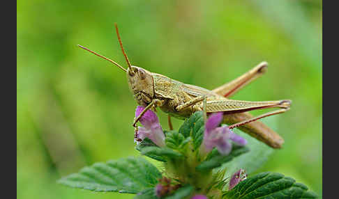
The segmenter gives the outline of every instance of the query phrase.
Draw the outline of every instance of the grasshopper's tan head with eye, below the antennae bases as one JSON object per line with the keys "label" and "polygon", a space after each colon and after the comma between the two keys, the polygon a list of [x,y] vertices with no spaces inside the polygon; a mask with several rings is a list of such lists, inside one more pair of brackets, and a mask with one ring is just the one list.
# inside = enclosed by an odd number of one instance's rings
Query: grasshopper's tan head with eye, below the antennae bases
{"label": "grasshopper's tan head with eye, below the antennae bases", "polygon": [[153,77],[151,72],[142,67],[132,65],[126,72],[128,87],[137,103],[146,106],[154,96]]}

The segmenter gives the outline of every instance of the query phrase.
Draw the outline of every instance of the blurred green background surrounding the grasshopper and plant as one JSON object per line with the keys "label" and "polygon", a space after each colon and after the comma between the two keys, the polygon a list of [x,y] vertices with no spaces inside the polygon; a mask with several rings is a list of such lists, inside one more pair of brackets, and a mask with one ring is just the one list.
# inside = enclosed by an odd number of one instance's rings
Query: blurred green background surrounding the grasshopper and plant
{"label": "blurred green background surrounding the grasshopper and plant", "polygon": [[96,161],[139,155],[126,74],[77,47],[126,67],[114,22],[133,65],[184,83],[213,89],[268,61],[264,77],[232,97],[293,100],[263,120],[285,145],[257,172],[322,195],[322,1],[19,0],[17,198],[133,198],[56,184]]}

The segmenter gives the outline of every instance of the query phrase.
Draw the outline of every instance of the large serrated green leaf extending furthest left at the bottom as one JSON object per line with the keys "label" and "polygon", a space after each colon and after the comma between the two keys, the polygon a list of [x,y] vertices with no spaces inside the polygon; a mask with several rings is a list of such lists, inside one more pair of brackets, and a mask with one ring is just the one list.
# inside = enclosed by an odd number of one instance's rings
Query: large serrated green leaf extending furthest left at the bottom
{"label": "large serrated green leaf extending furthest left at the bottom", "polygon": [[128,157],[84,167],[79,173],[63,177],[58,182],[91,191],[138,193],[155,186],[159,178],[161,173],[148,161]]}

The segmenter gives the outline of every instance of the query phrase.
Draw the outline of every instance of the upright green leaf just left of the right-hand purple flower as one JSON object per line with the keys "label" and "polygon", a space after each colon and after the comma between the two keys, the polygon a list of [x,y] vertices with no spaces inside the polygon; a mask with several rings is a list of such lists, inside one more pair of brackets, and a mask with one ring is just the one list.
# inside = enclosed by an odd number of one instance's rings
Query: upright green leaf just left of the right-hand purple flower
{"label": "upright green leaf just left of the right-hand purple flower", "polygon": [[191,136],[193,138],[193,146],[196,150],[202,143],[204,137],[204,117],[202,111],[197,111],[183,122],[179,129],[179,134],[183,134],[185,138]]}

